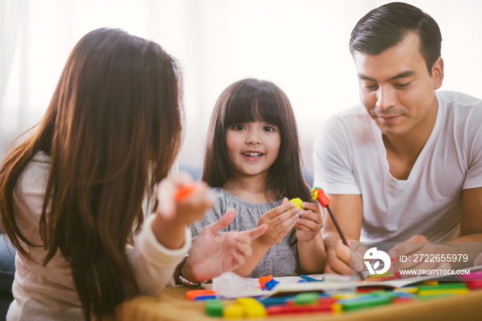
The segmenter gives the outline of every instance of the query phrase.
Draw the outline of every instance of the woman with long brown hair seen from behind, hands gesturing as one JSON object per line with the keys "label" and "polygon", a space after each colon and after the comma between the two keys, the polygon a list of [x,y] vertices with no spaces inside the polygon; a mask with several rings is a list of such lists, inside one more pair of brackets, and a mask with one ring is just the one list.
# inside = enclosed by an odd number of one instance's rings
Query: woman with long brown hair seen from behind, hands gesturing
{"label": "woman with long brown hair seen from behind, hands gesturing", "polygon": [[[180,146],[179,85],[154,42],[100,29],[77,43],[34,134],[0,168],[1,225],[18,252],[8,320],[90,320],[166,286],[191,245],[187,226],[212,204],[205,183],[175,203],[189,178],[164,179]],[[209,237],[229,222],[196,245],[225,268],[198,260],[207,275],[242,264],[262,232]]]}

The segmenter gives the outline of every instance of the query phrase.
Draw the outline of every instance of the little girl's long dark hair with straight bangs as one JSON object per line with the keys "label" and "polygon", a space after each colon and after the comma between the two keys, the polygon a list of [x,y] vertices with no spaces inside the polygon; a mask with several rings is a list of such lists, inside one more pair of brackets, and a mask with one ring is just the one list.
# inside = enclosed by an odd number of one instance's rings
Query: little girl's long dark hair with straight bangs
{"label": "little girl's long dark hair with straight bangs", "polygon": [[222,187],[232,178],[235,169],[229,159],[226,131],[231,125],[252,121],[271,123],[280,130],[280,152],[269,171],[266,196],[313,202],[301,172],[300,143],[291,103],[280,87],[269,81],[244,79],[222,92],[211,114],[202,180],[212,187]]}

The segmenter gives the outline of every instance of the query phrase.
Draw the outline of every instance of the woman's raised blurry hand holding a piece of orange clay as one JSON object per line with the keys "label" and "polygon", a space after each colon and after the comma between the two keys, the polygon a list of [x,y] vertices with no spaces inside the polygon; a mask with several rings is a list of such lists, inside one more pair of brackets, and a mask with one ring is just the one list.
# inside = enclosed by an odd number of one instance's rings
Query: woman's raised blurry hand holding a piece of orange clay
{"label": "woman's raised blurry hand holding a piece of orange clay", "polygon": [[[193,191],[175,200],[176,191],[194,184]],[[202,218],[213,205],[208,186],[204,182],[192,183],[187,173],[180,173],[160,181],[157,188],[158,207],[152,230],[158,242],[168,249],[179,249],[185,243],[185,229],[189,223]]]}

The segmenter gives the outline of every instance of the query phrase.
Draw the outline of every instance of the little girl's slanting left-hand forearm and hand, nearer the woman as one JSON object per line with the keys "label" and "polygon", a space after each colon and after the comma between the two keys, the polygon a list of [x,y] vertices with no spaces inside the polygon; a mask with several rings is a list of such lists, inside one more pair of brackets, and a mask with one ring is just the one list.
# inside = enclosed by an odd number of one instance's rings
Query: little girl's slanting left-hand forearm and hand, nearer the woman
{"label": "little girl's slanting left-hand forearm and hand, nearer the woman", "polygon": [[258,226],[266,224],[268,229],[262,236],[251,242],[253,254],[246,259],[244,265],[235,269],[235,273],[245,278],[249,277],[269,248],[280,242],[293,229],[300,216],[297,207],[294,206],[294,203],[288,202],[285,198],[282,205],[266,211],[260,217]]}

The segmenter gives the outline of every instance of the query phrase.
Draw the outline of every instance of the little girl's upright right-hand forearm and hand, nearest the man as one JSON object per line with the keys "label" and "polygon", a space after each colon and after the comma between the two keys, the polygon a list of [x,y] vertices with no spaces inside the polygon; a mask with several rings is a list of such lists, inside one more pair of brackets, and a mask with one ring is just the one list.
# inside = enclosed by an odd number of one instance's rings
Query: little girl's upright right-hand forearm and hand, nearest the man
{"label": "little girl's upright right-hand forearm and hand, nearest the man", "polygon": [[326,251],[322,238],[322,214],[317,204],[304,202],[302,217],[296,223],[298,261],[304,274],[322,273]]}

